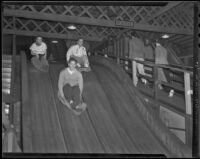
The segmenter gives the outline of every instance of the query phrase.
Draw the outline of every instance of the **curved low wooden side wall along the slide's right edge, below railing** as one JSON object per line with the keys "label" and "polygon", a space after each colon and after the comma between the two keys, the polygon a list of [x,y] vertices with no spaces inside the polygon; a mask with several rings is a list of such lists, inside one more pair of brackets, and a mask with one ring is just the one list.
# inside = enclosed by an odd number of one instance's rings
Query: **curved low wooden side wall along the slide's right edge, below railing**
{"label": "curved low wooden side wall along the slide's right edge, below railing", "polygon": [[105,67],[113,73],[116,79],[122,84],[124,90],[132,97],[135,102],[133,107],[138,109],[138,113],[140,112],[139,114],[141,115],[142,120],[145,120],[148,127],[154,132],[159,141],[166,146],[171,154],[183,158],[191,156],[191,147],[180,141],[180,139],[177,138],[177,136],[173,134],[161,120],[159,120],[156,113],[151,109],[152,104],[144,100],[145,96],[137,91],[131,78],[123,71],[120,65],[116,64],[116,59],[112,60],[111,58],[93,56],[90,57],[90,60],[91,64]]}

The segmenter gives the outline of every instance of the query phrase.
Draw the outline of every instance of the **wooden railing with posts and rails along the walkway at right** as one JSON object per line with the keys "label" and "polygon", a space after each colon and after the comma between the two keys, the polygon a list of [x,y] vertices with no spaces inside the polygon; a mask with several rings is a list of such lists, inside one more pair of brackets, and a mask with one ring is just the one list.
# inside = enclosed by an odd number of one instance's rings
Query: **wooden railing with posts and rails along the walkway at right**
{"label": "wooden railing with posts and rails along the walkway at right", "polygon": [[[116,63],[118,63],[124,70],[127,72],[131,77],[133,75],[132,67],[133,62],[141,63],[145,67],[149,67],[152,69],[150,71],[151,76],[144,76],[144,75],[138,75],[138,77],[142,77],[147,79],[149,82],[152,83],[152,90],[153,90],[153,96],[150,98],[151,103],[155,106],[156,110],[160,110],[161,106],[164,106],[168,108],[169,110],[178,113],[179,115],[183,116],[185,118],[185,133],[186,133],[186,143],[191,146],[192,144],[192,96],[191,96],[191,85],[192,85],[192,68],[186,67],[186,66],[180,66],[180,65],[162,65],[162,64],[155,64],[150,61],[139,61],[135,59],[125,58],[125,57],[116,57],[116,56],[110,56],[106,54],[99,53],[98,55],[104,56],[106,58],[113,59]],[[128,69],[127,69],[128,68]],[[175,85],[173,82],[164,82],[158,80],[158,68],[166,69],[170,71],[170,73],[176,73],[179,78],[180,74],[182,74],[182,85]],[[149,73],[149,72],[148,72]],[[132,78],[134,79],[134,78]],[[179,82],[180,83],[180,82]],[[174,107],[173,105],[163,103],[158,99],[158,85],[162,84],[164,87],[170,89],[174,89],[175,92],[179,91],[184,95],[183,101],[185,102],[185,108],[181,111],[180,109]],[[137,87],[136,87],[137,88]],[[137,88],[138,89],[138,88]],[[159,113],[157,113],[159,114]],[[174,128],[175,130],[176,128]]]}

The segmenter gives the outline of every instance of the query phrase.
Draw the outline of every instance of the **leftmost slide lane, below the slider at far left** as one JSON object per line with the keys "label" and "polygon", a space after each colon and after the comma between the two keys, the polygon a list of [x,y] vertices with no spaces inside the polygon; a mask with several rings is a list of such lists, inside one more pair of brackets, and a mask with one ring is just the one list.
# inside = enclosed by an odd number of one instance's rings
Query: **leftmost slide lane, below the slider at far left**
{"label": "leftmost slide lane, below the slider at far left", "polygon": [[28,79],[32,151],[38,153],[68,152],[48,73],[39,72],[28,64]]}

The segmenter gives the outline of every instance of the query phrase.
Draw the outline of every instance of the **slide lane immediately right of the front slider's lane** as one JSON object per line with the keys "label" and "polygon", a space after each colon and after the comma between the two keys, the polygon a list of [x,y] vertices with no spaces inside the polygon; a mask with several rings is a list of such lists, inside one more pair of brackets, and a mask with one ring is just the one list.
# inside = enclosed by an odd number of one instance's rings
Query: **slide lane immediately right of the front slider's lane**
{"label": "slide lane immediately right of the front slider's lane", "polygon": [[109,109],[110,99],[105,95],[94,73],[86,75],[85,81],[88,81],[85,84],[85,100],[90,105],[88,113],[106,153],[139,153]]}

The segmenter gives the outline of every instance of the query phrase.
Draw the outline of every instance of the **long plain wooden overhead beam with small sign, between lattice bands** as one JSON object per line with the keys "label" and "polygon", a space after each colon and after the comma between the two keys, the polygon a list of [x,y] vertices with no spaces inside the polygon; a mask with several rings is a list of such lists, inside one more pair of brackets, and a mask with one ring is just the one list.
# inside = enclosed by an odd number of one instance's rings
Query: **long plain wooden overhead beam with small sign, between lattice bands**
{"label": "long plain wooden overhead beam with small sign, between lattice bands", "polygon": [[28,19],[78,23],[78,24],[85,24],[85,25],[97,25],[97,26],[104,26],[104,27],[129,28],[129,29],[142,30],[142,31],[175,33],[175,34],[183,34],[183,35],[193,34],[193,31],[189,29],[159,27],[159,26],[153,26],[153,25],[144,24],[144,23],[136,23],[134,24],[133,27],[116,26],[115,21],[113,20],[99,20],[99,19],[91,19],[91,18],[86,18],[86,17],[56,15],[56,14],[38,13],[38,12],[11,10],[11,9],[4,9],[3,16],[15,16],[15,17],[28,18]]}

